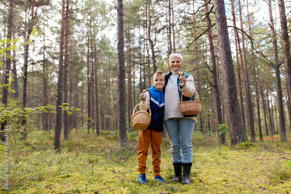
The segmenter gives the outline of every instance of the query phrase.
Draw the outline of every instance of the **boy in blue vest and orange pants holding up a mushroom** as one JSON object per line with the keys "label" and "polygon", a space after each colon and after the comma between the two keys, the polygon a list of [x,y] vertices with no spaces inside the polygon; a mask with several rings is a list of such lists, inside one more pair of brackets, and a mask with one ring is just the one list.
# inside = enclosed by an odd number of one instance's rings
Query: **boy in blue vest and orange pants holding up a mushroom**
{"label": "boy in blue vest and orange pants holding up a mushroom", "polygon": [[163,183],[164,179],[160,175],[161,171],[161,143],[163,119],[164,119],[164,86],[165,74],[163,71],[155,72],[153,76],[153,86],[151,86],[144,94],[140,94],[140,109],[147,111],[148,106],[152,112],[151,122],[147,129],[139,131],[139,144],[137,149],[137,161],[139,176],[137,181],[141,184],[147,183],[145,179],[146,159],[148,157],[148,147],[152,152],[152,168],[154,170],[154,179],[157,182]]}

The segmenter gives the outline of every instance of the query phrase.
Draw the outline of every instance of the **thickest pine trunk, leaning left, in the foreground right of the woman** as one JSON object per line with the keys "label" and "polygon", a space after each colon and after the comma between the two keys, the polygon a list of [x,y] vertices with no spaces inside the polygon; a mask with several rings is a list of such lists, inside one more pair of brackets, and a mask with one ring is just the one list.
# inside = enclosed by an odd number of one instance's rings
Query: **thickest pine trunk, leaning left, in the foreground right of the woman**
{"label": "thickest pine trunk, leaning left, in the foreground right of the woman", "polygon": [[242,114],[237,99],[235,71],[230,50],[227,21],[223,0],[214,0],[219,52],[222,64],[223,82],[227,112],[230,124],[231,145],[247,141],[246,129],[242,123]]}

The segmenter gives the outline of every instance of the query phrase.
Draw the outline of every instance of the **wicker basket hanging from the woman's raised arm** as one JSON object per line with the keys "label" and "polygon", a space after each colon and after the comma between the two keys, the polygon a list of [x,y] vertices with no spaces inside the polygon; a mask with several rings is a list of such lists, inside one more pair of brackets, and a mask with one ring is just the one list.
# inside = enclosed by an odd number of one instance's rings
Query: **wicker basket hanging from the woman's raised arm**
{"label": "wicker basket hanging from the woman's raised arm", "polygon": [[[192,90],[194,89],[192,88]],[[181,113],[184,115],[196,115],[196,114],[201,113],[202,103],[199,100],[199,96],[196,90],[194,90],[194,92],[196,93],[198,97],[198,101],[189,100],[189,101],[183,102],[183,94],[181,96],[181,102],[179,102],[179,105],[180,105]]]}

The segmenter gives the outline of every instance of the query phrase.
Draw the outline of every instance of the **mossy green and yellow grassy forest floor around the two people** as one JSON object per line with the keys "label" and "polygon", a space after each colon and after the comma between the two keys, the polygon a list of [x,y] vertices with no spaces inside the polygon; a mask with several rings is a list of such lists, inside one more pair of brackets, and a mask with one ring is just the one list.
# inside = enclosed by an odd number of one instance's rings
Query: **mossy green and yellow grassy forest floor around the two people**
{"label": "mossy green and yellow grassy forest floor around the two people", "polygon": [[[286,162],[291,159],[290,135],[285,142],[274,136],[273,140],[266,137],[254,144],[220,146],[217,138],[194,131],[189,185],[169,182],[174,172],[170,143],[164,138],[161,175],[165,183],[153,180],[149,149],[148,183],[141,185],[136,181],[138,133],[128,135],[132,141],[126,148],[118,147],[117,133],[107,135],[107,131],[101,131],[100,137],[75,135],[74,131],[72,134],[70,141],[61,141],[60,154],[53,152],[53,133],[31,131],[26,143],[15,143],[12,139],[9,188],[4,189],[1,178],[0,193],[291,193],[291,166]],[[0,155],[3,158],[3,150]],[[5,175],[4,166],[4,160],[0,160],[0,177]]]}

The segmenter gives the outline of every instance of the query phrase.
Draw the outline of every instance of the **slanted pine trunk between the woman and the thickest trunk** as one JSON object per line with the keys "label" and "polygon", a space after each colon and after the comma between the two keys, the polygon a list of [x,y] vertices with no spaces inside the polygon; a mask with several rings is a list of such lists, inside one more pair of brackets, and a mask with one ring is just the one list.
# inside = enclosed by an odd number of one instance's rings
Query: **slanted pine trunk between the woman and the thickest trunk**
{"label": "slanted pine trunk between the woman and the thickest trunk", "polygon": [[[204,3],[206,4],[208,1],[204,0]],[[210,26],[210,18],[209,18],[209,8],[208,4],[205,5],[205,14],[206,14],[206,27],[207,29]],[[219,90],[218,90],[218,82],[217,82],[217,72],[216,72],[216,60],[215,60],[215,51],[213,46],[213,37],[212,37],[212,31],[211,29],[208,29],[208,42],[209,42],[209,50],[210,50],[210,58],[211,58],[211,66],[212,66],[212,85],[214,89],[214,103],[215,103],[215,114],[217,118],[217,126],[219,124],[222,124],[222,113],[221,113],[221,104],[220,104],[220,96],[219,96]],[[218,134],[220,131],[217,131]],[[218,135],[219,144],[222,145],[225,143],[225,134]]]}

